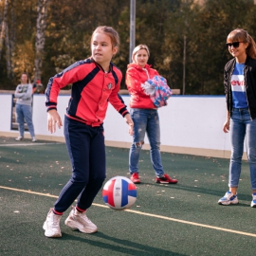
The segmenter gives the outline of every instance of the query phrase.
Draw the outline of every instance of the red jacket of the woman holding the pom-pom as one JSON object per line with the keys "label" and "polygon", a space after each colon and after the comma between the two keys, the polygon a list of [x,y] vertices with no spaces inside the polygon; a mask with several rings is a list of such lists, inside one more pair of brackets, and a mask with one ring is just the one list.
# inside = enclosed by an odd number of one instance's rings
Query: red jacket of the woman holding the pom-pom
{"label": "red jacket of the woman holding the pom-pom", "polygon": [[151,68],[149,64],[146,64],[145,68],[137,64],[127,65],[125,83],[131,96],[131,108],[155,108],[150,96],[146,95],[141,87],[141,83],[155,76],[159,76],[159,74],[155,69]]}

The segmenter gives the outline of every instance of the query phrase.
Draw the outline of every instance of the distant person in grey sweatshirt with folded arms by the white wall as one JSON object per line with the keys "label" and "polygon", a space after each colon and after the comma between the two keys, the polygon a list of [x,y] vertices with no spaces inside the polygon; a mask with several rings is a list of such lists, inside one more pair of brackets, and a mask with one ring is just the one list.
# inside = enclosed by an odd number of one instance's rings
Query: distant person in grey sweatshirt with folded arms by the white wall
{"label": "distant person in grey sweatshirt with folded arms by the white wall", "polygon": [[19,141],[24,138],[24,125],[25,121],[27,122],[28,131],[32,137],[32,142],[35,142],[37,139],[35,137],[34,125],[32,121],[32,84],[29,82],[27,73],[21,75],[21,83],[16,87],[15,98],[16,101],[16,115],[19,126],[19,137],[16,137],[15,140]]}

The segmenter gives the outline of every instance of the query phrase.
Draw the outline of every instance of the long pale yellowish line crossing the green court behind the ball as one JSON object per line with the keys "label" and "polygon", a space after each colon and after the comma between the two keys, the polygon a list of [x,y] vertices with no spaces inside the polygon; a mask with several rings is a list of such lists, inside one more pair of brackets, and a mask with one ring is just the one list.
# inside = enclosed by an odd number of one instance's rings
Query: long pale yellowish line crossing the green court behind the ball
{"label": "long pale yellowish line crossing the green court behind the ball", "polygon": [[[47,197],[58,198],[58,196],[56,196],[56,195],[49,194],[49,193],[43,193],[43,192],[24,191],[24,190],[19,190],[19,189],[4,187],[4,186],[0,186],[0,189],[14,191],[14,192],[27,192],[27,193],[38,194],[38,195],[43,195],[43,196],[47,196]],[[95,204],[95,203],[93,203],[93,206],[97,206],[97,207],[101,207],[101,208],[109,208],[105,205],[100,205],[100,204]],[[224,229],[224,228],[219,228],[219,227],[215,227],[215,226],[200,224],[200,223],[196,223],[196,222],[190,222],[190,221],[174,219],[174,218],[170,218],[170,217],[166,217],[166,216],[151,214],[151,213],[142,212],[142,211],[138,211],[138,210],[126,210],[126,211],[136,213],[136,214],[139,214],[139,215],[154,217],[156,219],[169,220],[169,221],[188,224],[188,225],[197,226],[197,227],[206,228],[206,229],[215,229],[215,230],[225,231],[225,232],[229,232],[229,233],[235,233],[235,234],[240,234],[240,235],[247,235],[247,236],[251,236],[251,237],[256,237],[256,234],[254,234],[254,233],[248,233],[248,232],[238,231],[238,230],[234,230],[234,229]]]}

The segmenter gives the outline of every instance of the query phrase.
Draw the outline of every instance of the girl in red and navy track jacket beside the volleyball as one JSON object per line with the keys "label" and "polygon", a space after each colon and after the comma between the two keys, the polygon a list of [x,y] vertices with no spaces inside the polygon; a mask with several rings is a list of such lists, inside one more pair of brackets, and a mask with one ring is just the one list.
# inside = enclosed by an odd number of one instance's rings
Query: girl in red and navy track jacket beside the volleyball
{"label": "girl in red and navy track jacket beside the volleyball", "polygon": [[98,230],[86,213],[106,177],[103,120],[108,102],[126,120],[130,126],[130,134],[133,133],[133,120],[118,94],[122,74],[111,63],[118,50],[118,32],[112,27],[97,27],[91,38],[92,56],[65,68],[47,84],[47,125],[50,133],[56,131],[56,124],[59,128],[63,125],[57,112],[60,89],[73,84],[64,117],[64,137],[72,164],[72,175],[54,208],[47,214],[43,226],[47,237],[62,236],[61,217],[77,197],[76,207],[72,207],[65,225],[84,233]]}

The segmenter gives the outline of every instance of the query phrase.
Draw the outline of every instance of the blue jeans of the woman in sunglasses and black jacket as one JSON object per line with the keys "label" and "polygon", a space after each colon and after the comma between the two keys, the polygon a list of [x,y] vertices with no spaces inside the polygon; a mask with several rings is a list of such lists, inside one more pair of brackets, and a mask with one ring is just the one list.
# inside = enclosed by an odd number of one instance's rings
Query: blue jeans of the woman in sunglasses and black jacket
{"label": "blue jeans of the woman in sunglasses and black jacket", "polygon": [[233,108],[229,129],[231,141],[229,188],[238,187],[246,138],[251,189],[256,190],[256,119],[250,119],[248,109]]}

